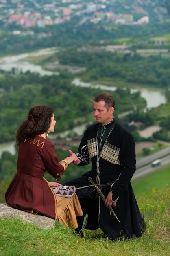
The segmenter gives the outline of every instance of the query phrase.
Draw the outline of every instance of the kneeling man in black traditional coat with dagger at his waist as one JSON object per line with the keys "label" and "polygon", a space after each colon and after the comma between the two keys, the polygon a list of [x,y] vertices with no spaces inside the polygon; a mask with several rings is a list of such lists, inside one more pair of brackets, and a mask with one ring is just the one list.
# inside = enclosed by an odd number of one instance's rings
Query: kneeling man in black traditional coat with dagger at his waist
{"label": "kneeling man in black traditional coat with dagger at his waist", "polygon": [[[82,177],[67,182],[76,186],[76,194],[84,216],[77,217],[78,232],[81,229],[102,231],[112,240],[130,239],[133,234],[142,236],[146,229],[143,215],[139,212],[131,178],[135,172],[135,143],[133,135],[113,117],[114,98],[101,93],[94,98],[93,111],[96,124],[87,128],[78,148],[79,166],[92,162],[91,171]],[[101,189],[103,202],[89,182],[88,177]],[[118,220],[110,213],[113,207]]]}

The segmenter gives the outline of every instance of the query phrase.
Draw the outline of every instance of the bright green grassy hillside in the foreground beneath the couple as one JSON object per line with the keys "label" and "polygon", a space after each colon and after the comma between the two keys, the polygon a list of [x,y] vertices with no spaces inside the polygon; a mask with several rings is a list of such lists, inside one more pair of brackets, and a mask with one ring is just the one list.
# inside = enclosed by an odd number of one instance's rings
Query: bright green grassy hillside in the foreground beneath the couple
{"label": "bright green grassy hillside in the foreground beneath the couple", "polygon": [[13,218],[0,218],[0,256],[169,256],[170,164],[132,181],[147,223],[141,238],[112,242],[100,229],[78,238],[62,225],[42,229]]}

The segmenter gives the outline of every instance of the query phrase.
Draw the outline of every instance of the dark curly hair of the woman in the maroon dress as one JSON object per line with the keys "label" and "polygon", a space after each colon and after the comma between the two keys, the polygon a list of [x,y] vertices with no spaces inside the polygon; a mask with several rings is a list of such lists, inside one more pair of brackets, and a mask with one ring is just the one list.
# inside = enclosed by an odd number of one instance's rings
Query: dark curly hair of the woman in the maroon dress
{"label": "dark curly hair of the woman in the maroon dress", "polygon": [[47,132],[54,110],[50,106],[38,105],[29,110],[27,120],[20,124],[16,134],[16,145],[25,139]]}

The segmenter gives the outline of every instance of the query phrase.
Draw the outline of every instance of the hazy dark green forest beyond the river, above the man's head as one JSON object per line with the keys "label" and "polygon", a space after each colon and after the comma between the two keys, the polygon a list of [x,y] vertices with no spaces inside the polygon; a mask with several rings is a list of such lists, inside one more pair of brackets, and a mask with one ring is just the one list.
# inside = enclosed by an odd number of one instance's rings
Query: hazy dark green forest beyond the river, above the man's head
{"label": "hazy dark green forest beyond the river, above the man's head", "polygon": [[63,65],[86,67],[86,72],[79,74],[83,81],[114,79],[165,89],[170,81],[170,58],[162,58],[161,54],[146,58],[137,53],[69,49],[57,52],[56,59]]}

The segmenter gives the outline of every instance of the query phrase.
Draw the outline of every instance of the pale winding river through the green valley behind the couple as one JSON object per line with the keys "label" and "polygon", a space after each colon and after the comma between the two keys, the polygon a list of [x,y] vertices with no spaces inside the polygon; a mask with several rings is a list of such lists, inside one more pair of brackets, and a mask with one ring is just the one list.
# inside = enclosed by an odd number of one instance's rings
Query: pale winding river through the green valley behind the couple
{"label": "pale winding river through the green valley behind the couple", "polygon": [[[18,70],[18,72],[22,71],[22,72],[26,72],[26,71],[30,71],[30,72],[36,72],[39,73],[41,76],[44,75],[52,75],[54,74],[54,72],[52,71],[48,71],[48,70],[44,70],[40,65],[35,65],[33,63],[30,63],[28,61],[22,61],[25,58],[28,57],[32,57],[32,56],[40,56],[40,55],[45,55],[45,54],[50,54],[53,52],[56,52],[56,48],[47,48],[47,49],[43,49],[43,50],[39,50],[39,51],[35,51],[35,52],[31,52],[31,53],[24,53],[24,54],[18,54],[18,55],[13,55],[13,56],[5,56],[3,58],[0,58],[0,69],[1,70],[5,70],[5,71],[10,71],[12,68],[16,68]],[[58,73],[55,73],[58,74]],[[97,84],[97,85],[92,85],[90,83],[84,83],[82,81],[80,81],[80,79],[75,78],[72,83],[76,86],[80,86],[80,87],[92,87],[92,88],[101,88],[102,90],[109,90],[109,91],[115,91],[116,87],[109,87],[106,85],[101,85],[101,84]],[[131,89],[131,93],[136,92],[138,89]],[[165,94],[163,94],[163,90],[161,89],[150,89],[150,88],[140,88],[139,89],[141,92],[141,97],[143,97],[144,99],[146,99],[146,103],[147,103],[147,108],[155,108],[161,104],[166,103],[166,97]],[[81,131],[84,128],[81,127],[75,127],[74,130],[75,132],[81,133]],[[79,131],[79,132],[78,132]],[[63,132],[63,134],[61,135],[61,137],[64,137],[68,132]],[[81,134],[78,134],[81,135]],[[3,143],[0,144],[0,156],[2,155],[3,151],[9,151],[11,154],[15,153],[15,142],[7,142],[7,143]]]}

